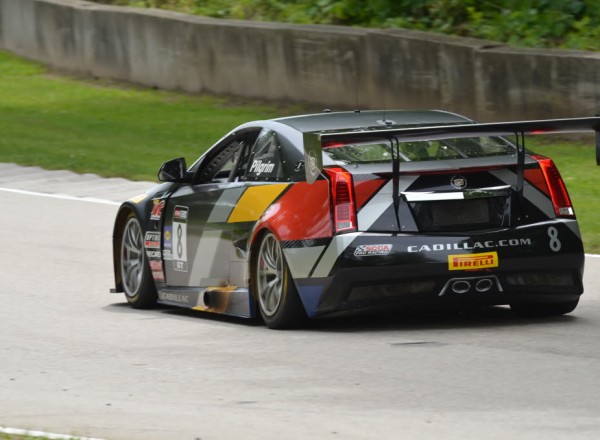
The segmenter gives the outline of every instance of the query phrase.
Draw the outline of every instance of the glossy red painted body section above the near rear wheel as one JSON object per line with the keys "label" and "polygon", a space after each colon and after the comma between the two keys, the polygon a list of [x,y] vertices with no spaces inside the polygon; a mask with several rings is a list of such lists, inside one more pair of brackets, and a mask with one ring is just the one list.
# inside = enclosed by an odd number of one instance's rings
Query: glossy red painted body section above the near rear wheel
{"label": "glossy red painted body section above the near rear wheel", "polygon": [[265,212],[256,230],[269,228],[279,240],[332,236],[329,182],[298,182]]}

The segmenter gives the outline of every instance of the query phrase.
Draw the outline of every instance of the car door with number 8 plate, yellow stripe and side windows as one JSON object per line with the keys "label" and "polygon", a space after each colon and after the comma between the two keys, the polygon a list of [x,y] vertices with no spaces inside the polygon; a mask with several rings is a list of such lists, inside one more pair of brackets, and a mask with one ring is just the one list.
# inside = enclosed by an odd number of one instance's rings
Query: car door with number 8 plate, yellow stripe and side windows
{"label": "car door with number 8 plate, yellow stripe and side windows", "polygon": [[[277,136],[259,129],[217,146],[194,182],[167,201],[163,226],[166,284],[247,287],[247,240],[264,209],[287,187]],[[268,186],[268,188],[265,188]]]}

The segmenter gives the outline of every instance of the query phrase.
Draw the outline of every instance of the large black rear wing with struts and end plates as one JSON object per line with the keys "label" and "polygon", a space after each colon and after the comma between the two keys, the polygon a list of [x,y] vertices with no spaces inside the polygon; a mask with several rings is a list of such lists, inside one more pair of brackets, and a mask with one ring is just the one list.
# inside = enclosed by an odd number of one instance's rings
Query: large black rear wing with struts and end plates
{"label": "large black rear wing with struts and end plates", "polygon": [[[596,164],[600,165],[600,117],[542,119],[538,121],[491,122],[484,124],[439,125],[387,130],[304,133],[304,169],[306,181],[313,183],[323,169],[323,142],[387,140],[391,145],[402,142],[455,139],[478,136],[509,136],[517,138],[517,168],[522,176],[525,163],[525,135],[596,132]],[[399,157],[394,157],[394,174],[399,173]]]}

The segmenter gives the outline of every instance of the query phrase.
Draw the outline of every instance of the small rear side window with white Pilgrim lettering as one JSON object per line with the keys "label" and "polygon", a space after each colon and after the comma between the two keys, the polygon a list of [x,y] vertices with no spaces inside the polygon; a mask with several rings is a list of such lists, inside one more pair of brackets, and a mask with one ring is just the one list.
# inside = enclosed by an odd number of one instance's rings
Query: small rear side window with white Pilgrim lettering
{"label": "small rear side window with white Pilgrim lettering", "polygon": [[264,129],[258,135],[247,165],[245,179],[249,181],[277,181],[283,179],[277,134]]}

